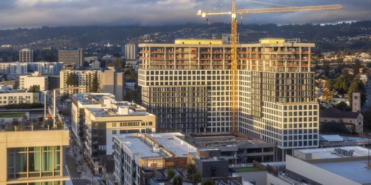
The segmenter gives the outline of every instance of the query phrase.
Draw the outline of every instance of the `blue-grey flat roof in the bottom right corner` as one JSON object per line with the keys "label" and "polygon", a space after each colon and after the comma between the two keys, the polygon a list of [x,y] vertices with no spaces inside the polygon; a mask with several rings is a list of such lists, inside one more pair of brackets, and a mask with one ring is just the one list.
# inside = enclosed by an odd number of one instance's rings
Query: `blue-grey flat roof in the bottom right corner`
{"label": "blue-grey flat roof in the bottom right corner", "polygon": [[371,169],[365,167],[367,160],[319,162],[312,164],[361,184],[371,183]]}

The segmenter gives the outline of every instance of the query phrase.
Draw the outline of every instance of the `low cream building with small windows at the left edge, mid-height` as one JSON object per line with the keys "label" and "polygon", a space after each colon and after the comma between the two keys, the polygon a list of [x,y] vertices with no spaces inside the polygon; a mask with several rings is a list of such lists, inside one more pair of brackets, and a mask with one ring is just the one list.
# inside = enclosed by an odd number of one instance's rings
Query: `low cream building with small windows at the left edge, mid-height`
{"label": "low cream building with small windows at the left edge, mid-height", "polygon": [[39,103],[39,93],[9,92],[0,93],[0,107],[9,104]]}

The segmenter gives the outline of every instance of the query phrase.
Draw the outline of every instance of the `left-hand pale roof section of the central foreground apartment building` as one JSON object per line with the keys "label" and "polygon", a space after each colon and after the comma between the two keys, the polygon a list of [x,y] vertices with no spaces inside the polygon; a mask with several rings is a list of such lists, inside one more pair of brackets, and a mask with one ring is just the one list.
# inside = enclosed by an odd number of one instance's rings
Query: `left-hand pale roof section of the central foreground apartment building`
{"label": "left-hand pale roof section of the central foreground apartment building", "polygon": [[149,147],[139,137],[127,135],[116,135],[115,136],[121,144],[125,145],[138,157],[157,157],[161,156],[159,152],[154,152],[153,148]]}

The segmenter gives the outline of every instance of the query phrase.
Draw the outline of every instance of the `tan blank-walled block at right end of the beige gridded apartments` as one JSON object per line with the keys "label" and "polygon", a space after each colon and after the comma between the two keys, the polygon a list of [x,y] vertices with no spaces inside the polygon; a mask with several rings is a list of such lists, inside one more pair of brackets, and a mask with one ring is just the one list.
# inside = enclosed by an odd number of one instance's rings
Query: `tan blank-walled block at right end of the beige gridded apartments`
{"label": "tan blank-walled block at right end of the beige gridded apartments", "polygon": [[115,95],[117,101],[123,101],[125,95],[125,74],[114,67],[103,68],[100,72],[101,92]]}

